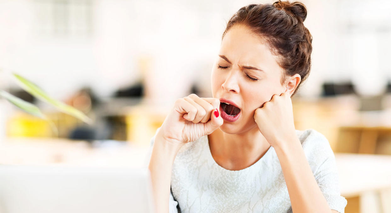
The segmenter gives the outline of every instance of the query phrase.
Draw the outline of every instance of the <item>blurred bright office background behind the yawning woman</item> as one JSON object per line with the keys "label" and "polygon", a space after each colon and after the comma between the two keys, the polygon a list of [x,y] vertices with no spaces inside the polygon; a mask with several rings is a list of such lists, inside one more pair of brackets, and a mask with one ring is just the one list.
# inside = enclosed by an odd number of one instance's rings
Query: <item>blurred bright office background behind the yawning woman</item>
{"label": "blurred bright office background behind the yawning woman", "polygon": [[[142,166],[177,98],[212,97],[229,18],[246,0],[0,0],[0,163]],[[391,2],[305,0],[312,69],[292,97],[295,127],[334,150],[345,212],[391,212]],[[15,72],[83,111],[87,125],[36,100]],[[132,153],[132,154],[129,154]],[[144,161],[143,161],[144,162]]]}

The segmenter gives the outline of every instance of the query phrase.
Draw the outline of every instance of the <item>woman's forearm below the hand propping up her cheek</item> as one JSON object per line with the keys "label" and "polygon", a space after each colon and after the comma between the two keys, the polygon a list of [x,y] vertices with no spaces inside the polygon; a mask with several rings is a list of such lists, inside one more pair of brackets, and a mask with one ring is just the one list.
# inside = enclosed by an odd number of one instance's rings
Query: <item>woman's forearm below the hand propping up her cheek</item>
{"label": "woman's forearm below the hand propping up her cheek", "polygon": [[293,212],[330,213],[298,138],[284,141],[283,147],[275,147],[287,184]]}

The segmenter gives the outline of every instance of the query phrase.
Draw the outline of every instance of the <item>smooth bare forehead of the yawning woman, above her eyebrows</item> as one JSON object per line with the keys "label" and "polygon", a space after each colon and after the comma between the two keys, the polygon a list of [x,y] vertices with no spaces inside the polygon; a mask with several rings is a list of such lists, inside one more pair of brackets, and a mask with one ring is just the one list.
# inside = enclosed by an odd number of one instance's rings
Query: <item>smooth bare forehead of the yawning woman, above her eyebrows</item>
{"label": "smooth bare forehead of the yawning woman, above her eyebrows", "polygon": [[225,55],[232,63],[253,64],[268,69],[280,68],[277,63],[278,56],[269,50],[264,39],[255,36],[244,25],[236,24],[226,32],[221,42],[220,54]]}

